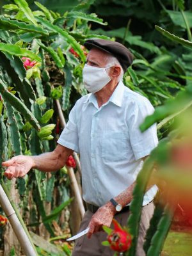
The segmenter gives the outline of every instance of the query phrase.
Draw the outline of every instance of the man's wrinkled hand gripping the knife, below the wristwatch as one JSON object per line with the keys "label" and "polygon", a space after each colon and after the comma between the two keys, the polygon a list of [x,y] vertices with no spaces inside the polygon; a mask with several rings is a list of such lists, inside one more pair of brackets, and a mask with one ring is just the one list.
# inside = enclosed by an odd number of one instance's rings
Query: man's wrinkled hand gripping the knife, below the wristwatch
{"label": "man's wrinkled hand gripping the knife, below the wristwatch", "polygon": [[92,237],[92,234],[102,230],[102,225],[110,227],[113,217],[115,215],[115,207],[111,203],[100,207],[92,216],[88,227],[90,228],[87,236]]}

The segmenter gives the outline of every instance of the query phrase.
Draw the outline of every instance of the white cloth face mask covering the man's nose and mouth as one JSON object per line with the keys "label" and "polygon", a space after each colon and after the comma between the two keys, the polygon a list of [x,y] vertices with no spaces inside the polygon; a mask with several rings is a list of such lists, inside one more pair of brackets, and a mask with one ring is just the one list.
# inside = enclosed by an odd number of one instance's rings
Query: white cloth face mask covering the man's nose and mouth
{"label": "white cloth face mask covering the man's nose and mouth", "polygon": [[83,83],[88,92],[99,92],[109,81],[111,81],[111,77],[108,76],[106,68],[92,67],[87,64],[84,65]]}

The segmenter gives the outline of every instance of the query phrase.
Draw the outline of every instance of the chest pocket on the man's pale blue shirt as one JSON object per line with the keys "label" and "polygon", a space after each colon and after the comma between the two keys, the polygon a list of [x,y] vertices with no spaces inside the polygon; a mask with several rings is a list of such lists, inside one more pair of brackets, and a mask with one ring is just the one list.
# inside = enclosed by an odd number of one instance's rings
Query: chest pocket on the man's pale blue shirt
{"label": "chest pocket on the man's pale blue shirt", "polygon": [[120,161],[127,158],[128,133],[108,132],[102,136],[101,156],[106,161]]}

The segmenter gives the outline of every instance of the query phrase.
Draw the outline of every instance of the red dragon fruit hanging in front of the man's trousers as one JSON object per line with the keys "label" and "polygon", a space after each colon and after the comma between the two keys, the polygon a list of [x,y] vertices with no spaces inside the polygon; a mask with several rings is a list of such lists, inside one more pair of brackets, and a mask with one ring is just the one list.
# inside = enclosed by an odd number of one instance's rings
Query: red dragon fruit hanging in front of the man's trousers
{"label": "red dragon fruit hanging in front of the man's trousers", "polygon": [[112,250],[126,252],[131,247],[131,234],[124,230],[116,220],[113,219],[114,230],[107,237]]}

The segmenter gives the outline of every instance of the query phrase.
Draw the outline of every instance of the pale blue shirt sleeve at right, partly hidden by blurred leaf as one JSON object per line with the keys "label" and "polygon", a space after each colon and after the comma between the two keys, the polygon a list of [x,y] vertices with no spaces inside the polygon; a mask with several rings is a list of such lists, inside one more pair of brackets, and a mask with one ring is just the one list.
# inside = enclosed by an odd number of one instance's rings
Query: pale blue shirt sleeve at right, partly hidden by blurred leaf
{"label": "pale blue shirt sleeve at right, partly hidden by blurred leaf", "polygon": [[135,102],[129,111],[129,138],[136,160],[148,156],[158,144],[156,124],[149,127],[145,132],[140,131],[140,125],[145,117],[152,115],[153,112],[154,108],[146,98],[142,98],[137,104]]}

